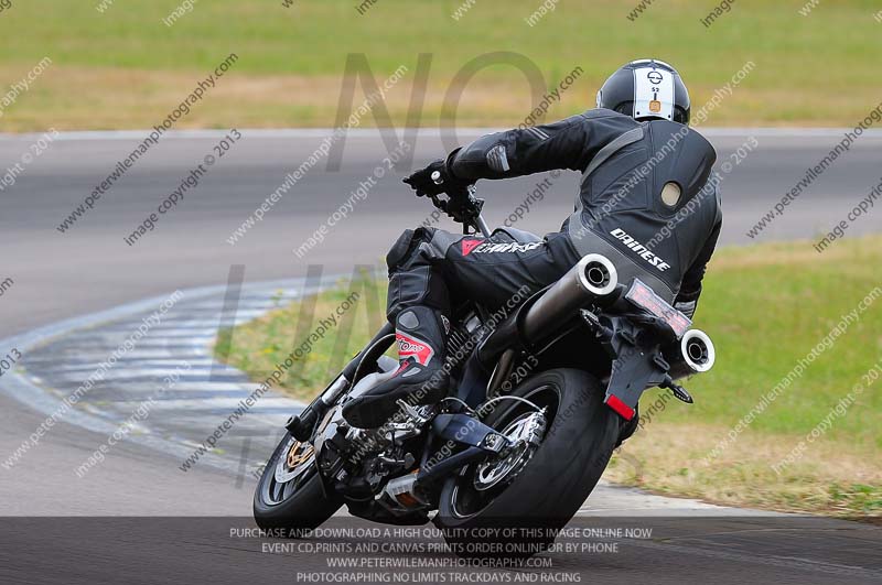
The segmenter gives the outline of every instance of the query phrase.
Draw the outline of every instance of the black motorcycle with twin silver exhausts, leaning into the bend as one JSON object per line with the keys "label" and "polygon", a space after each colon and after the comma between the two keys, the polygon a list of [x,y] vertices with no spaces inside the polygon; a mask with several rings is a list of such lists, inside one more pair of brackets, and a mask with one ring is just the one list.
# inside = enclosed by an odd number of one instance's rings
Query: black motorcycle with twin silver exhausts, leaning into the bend
{"label": "black motorcycle with twin silver exhausts, leaning into the bend", "polygon": [[[443,195],[432,203],[463,234],[490,236],[474,186]],[[346,401],[398,367],[385,355],[395,342],[386,324],[289,419],[255,492],[257,524],[303,533],[345,505],[375,522],[431,520],[462,556],[546,550],[636,429],[643,392],[660,387],[691,403],[677,381],[711,369],[716,353],[639,279],[619,282],[601,254],[524,296],[505,314],[480,300],[454,308],[447,398],[399,401],[381,427],[352,427],[341,414]],[[476,548],[476,534],[497,545]]]}

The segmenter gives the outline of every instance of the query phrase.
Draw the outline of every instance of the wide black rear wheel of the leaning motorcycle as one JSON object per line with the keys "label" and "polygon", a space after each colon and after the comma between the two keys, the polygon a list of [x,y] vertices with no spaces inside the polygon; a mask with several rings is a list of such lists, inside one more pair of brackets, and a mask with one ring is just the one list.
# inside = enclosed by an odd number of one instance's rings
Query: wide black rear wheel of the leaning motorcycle
{"label": "wide black rear wheel of the leaning motorcycle", "polygon": [[[547,423],[538,444],[464,467],[445,483],[434,522],[461,556],[546,550],[594,489],[620,437],[622,420],[584,371],[548,370],[508,396],[544,409]],[[517,436],[536,411],[531,404],[498,401],[484,422]]]}

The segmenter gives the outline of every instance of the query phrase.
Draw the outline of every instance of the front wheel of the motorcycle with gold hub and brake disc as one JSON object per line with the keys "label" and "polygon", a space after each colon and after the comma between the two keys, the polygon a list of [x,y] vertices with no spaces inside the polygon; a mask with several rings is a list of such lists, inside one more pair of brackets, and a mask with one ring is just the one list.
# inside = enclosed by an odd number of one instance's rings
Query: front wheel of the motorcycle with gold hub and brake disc
{"label": "front wheel of the motorcycle with gold hub and brake disc", "polygon": [[341,505],[338,497],[325,494],[312,445],[286,433],[255,490],[257,526],[265,530],[310,530],[334,516]]}

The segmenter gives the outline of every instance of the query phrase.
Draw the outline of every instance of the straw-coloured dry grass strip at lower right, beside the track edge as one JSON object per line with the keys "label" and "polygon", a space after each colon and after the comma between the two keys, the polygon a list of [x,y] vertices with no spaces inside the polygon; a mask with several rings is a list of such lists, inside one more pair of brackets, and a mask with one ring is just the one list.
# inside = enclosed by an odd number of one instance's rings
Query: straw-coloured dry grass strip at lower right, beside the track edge
{"label": "straw-coloured dry grass strip at lower right, beside the track edge", "polygon": [[613,458],[611,481],[725,506],[843,517],[882,517],[878,453],[819,441],[781,475],[772,465],[804,437],[744,433],[710,464],[704,457],[729,429],[654,421]]}

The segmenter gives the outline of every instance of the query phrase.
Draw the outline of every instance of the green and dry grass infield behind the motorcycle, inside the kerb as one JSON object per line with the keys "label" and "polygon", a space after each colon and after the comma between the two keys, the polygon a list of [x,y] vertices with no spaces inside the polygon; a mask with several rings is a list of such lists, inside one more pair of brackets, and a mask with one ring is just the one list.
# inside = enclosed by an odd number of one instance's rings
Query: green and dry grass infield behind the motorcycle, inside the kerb
{"label": "green and dry grass infield behind the motorcycle, inside the kerb", "polygon": [[[872,373],[882,371],[881,264],[880,236],[838,241],[820,254],[808,242],[720,250],[696,323],[714,339],[717,366],[687,382],[692,405],[663,391],[644,397],[643,427],[606,477],[727,505],[882,516],[882,379]],[[298,332],[359,288],[365,302],[342,317],[340,335],[315,343],[284,380],[310,399],[380,323],[384,286],[345,284],[281,307],[238,327],[235,344],[224,332],[218,350],[262,379],[300,343],[291,342],[302,339]],[[831,338],[845,315],[852,315],[847,331]]]}

